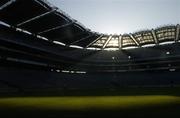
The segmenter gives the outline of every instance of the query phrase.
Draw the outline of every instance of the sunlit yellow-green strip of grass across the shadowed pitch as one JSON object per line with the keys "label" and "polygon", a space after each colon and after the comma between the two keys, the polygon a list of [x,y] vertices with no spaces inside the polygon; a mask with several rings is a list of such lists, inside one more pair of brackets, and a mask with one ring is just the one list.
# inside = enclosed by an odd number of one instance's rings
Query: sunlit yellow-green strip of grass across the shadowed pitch
{"label": "sunlit yellow-green strip of grass across the shadowed pitch", "polygon": [[148,96],[79,96],[79,97],[16,97],[1,98],[0,106],[30,107],[41,109],[85,110],[127,109],[148,106],[180,104],[180,97]]}

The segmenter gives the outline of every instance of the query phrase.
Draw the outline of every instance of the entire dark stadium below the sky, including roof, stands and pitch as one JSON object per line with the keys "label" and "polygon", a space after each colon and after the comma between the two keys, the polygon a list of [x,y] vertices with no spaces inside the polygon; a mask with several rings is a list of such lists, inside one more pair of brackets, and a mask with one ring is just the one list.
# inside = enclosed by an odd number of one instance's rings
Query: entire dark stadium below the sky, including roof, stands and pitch
{"label": "entire dark stadium below the sky, including roof, stands and pitch", "polygon": [[1,0],[1,117],[178,117],[179,42],[179,24],[103,34],[46,0]]}

